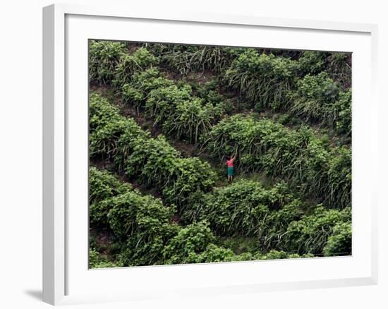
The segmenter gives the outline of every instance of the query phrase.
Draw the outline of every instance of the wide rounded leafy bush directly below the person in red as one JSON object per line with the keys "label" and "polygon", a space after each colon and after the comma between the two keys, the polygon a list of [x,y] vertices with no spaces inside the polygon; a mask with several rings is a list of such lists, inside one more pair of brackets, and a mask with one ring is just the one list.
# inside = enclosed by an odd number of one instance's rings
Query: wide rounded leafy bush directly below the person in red
{"label": "wide rounded leafy bush directly below the person in red", "polygon": [[217,235],[257,236],[264,244],[273,237],[269,231],[275,234],[279,232],[277,228],[300,217],[300,202],[295,202],[293,208],[287,206],[293,200],[284,183],[266,189],[255,181],[241,180],[190,201],[182,219],[186,222],[205,219]]}

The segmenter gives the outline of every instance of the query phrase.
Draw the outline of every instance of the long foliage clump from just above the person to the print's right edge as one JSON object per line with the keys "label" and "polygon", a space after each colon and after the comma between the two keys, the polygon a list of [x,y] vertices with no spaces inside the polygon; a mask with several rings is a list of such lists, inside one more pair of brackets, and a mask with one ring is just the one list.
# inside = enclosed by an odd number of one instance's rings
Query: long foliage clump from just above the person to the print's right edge
{"label": "long foliage clump from just above the person to the print's right edge", "polygon": [[213,126],[203,145],[214,158],[234,154],[239,169],[281,177],[332,207],[351,202],[351,149],[332,147],[308,128],[294,130],[268,119],[235,115]]}

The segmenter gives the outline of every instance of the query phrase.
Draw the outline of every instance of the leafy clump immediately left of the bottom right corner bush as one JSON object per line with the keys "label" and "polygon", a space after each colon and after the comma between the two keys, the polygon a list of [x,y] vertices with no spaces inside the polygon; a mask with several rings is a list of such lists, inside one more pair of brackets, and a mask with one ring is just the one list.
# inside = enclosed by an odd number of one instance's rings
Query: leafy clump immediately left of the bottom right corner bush
{"label": "leafy clump immediately left of the bottom right corner bush", "polygon": [[326,210],[318,206],[313,214],[305,215],[301,220],[289,225],[284,235],[283,246],[287,251],[299,254],[321,255],[329,236],[333,234],[334,226],[350,221],[350,207],[339,211]]}

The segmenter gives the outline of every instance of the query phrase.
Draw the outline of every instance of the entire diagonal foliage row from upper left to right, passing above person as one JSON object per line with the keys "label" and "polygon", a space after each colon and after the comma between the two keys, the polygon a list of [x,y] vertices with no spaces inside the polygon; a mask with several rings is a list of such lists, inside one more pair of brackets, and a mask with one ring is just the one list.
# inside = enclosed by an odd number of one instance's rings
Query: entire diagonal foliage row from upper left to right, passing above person
{"label": "entire diagonal foliage row from upper left to right, passing above person", "polygon": [[165,135],[199,143],[216,159],[235,154],[243,169],[286,179],[332,207],[351,202],[347,145],[332,147],[306,126],[291,129],[270,119],[229,116],[225,102],[193,95],[190,85],[176,85],[156,68],[134,73],[121,94],[123,102],[162,126]]}

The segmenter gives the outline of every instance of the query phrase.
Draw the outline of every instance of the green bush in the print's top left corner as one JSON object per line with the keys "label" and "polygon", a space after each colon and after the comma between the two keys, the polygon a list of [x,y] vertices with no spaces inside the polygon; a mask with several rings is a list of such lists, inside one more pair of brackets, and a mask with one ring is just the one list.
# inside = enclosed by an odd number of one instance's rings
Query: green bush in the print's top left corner
{"label": "green bush in the print's top left corner", "polygon": [[123,43],[90,41],[90,80],[97,81],[100,85],[111,83],[116,74],[116,66],[125,54],[126,47]]}

